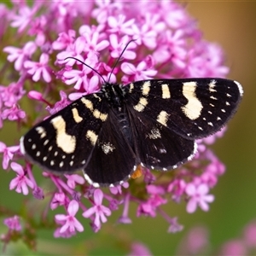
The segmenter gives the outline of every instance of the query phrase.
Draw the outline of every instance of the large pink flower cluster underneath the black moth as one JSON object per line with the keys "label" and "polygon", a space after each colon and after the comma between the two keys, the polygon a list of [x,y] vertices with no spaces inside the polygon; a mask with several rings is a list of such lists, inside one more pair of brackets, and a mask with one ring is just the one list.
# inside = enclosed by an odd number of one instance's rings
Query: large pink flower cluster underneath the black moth
{"label": "large pink flower cluster underneath the black moth", "polygon": [[[5,62],[1,68],[6,70],[5,79],[0,81],[2,129],[6,119],[15,122],[17,129],[28,129],[80,96],[100,90],[102,79],[91,68],[106,80],[112,73],[110,82],[124,84],[154,78],[224,77],[228,73],[222,50],[205,41],[195,20],[182,5],[172,1],[42,0],[12,4],[11,9],[0,4],[5,20],[0,31],[0,37],[4,35],[1,62]],[[113,69],[131,39],[136,40]],[[84,61],[91,68],[67,57]],[[33,104],[32,113],[22,110],[25,101]],[[14,137],[14,142],[18,139]],[[10,167],[15,176],[9,189],[47,199],[51,210],[65,210],[65,214],[55,215],[55,236],[70,237],[84,231],[75,217],[79,210],[90,219],[94,231],[100,230],[119,207],[124,209],[119,223],[129,224],[131,202],[137,204],[137,217],[160,215],[169,224],[168,231],[176,232],[182,226],[161,206],[171,198],[177,203],[187,201],[187,212],[195,212],[197,207],[207,211],[214,200],[209,189],[224,173],[224,165],[207,143],[199,143],[195,160],[177,171],[160,174],[143,170],[143,178],[112,189],[94,189],[78,174],[59,177],[44,172],[44,178],[55,185],[47,195],[33,177],[33,166],[24,160],[19,146],[0,142],[0,153],[3,170]],[[143,196],[137,196],[137,189]]]}

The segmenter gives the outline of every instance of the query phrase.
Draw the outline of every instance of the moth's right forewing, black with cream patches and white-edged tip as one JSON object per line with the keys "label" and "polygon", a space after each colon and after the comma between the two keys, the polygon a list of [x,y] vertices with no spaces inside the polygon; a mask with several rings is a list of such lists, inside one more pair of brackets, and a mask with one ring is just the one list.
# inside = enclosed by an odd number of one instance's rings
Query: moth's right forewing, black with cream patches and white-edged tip
{"label": "moth's right forewing, black with cream patches and white-edged tip", "polygon": [[207,137],[236,113],[241,84],[228,79],[159,79],[129,84],[126,101],[182,137]]}

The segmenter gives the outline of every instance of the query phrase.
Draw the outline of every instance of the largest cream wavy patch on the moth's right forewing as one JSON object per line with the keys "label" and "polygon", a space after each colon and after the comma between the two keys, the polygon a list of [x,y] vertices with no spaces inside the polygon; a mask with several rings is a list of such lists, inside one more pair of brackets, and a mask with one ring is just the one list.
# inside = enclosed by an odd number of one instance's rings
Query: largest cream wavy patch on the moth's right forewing
{"label": "largest cream wavy patch on the moth's right forewing", "polygon": [[188,100],[188,103],[182,107],[183,113],[191,120],[200,117],[202,104],[195,95],[196,83],[185,82],[183,83],[183,96]]}

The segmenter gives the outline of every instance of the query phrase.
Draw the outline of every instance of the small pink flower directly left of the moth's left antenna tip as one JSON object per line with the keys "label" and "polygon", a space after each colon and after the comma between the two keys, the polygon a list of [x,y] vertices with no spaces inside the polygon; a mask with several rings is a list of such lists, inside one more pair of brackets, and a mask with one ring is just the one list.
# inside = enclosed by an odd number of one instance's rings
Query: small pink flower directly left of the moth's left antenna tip
{"label": "small pink flower directly left of the moth's left antenna tip", "polygon": [[32,75],[32,80],[38,82],[43,77],[44,81],[49,83],[51,81],[50,71],[48,67],[49,55],[42,53],[39,62],[25,61],[24,67],[27,73]]}

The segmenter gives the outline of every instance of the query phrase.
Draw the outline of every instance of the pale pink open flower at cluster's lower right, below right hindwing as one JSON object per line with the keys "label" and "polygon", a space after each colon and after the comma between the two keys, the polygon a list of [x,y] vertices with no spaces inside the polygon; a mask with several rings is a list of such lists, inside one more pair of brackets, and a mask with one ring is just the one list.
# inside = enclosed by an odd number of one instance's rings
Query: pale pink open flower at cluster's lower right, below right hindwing
{"label": "pale pink open flower at cluster's lower right, below right hindwing", "polygon": [[189,183],[186,187],[186,193],[189,195],[187,212],[195,212],[197,206],[207,212],[209,210],[208,203],[214,201],[214,195],[207,195],[208,192],[209,188],[204,183],[201,183],[197,187],[195,187],[195,184]]}

